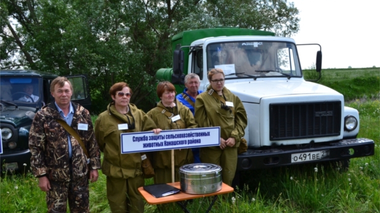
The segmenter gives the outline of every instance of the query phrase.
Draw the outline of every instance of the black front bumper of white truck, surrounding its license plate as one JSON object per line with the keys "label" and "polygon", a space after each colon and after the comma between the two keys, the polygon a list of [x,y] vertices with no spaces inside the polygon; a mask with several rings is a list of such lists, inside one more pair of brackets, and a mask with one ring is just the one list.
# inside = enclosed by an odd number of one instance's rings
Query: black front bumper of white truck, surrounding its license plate
{"label": "black front bumper of white truck, surrounding its license plate", "polygon": [[[308,160],[292,162],[292,154],[304,154],[318,151],[328,151],[329,156],[317,160]],[[374,154],[373,140],[366,138],[340,140],[329,145],[316,145],[311,148],[293,148],[275,147],[266,150],[252,150],[237,156],[236,171],[264,169],[294,164],[307,164],[314,162],[347,160],[350,158],[359,158],[371,156]]]}

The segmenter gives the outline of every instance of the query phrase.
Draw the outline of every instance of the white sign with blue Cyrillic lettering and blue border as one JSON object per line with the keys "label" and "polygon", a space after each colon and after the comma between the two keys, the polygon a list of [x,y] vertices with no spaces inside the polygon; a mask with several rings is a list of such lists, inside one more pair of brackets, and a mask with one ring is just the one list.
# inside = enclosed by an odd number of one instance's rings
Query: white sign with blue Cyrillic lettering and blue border
{"label": "white sign with blue Cyrillic lettering and blue border", "polygon": [[220,145],[220,127],[121,134],[121,154]]}

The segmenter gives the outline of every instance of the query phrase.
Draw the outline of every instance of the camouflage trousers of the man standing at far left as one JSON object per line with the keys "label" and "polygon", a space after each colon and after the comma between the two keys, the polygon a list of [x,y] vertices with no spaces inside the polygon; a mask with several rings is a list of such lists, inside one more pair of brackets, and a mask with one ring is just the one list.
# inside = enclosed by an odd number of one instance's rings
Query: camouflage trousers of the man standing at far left
{"label": "camouflage trousers of the man standing at far left", "polygon": [[50,187],[46,192],[49,213],[65,213],[67,199],[71,213],[89,213],[87,176],[77,181],[50,181]]}

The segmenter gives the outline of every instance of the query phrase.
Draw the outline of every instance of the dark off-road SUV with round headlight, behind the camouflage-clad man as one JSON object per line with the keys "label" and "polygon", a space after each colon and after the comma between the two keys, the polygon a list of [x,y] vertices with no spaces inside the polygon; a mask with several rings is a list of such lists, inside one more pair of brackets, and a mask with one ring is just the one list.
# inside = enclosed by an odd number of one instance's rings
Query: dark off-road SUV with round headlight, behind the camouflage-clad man
{"label": "dark off-road SUV with round headlight, behind the camouflage-clad man", "polygon": [[[35,113],[54,98],[50,82],[57,75],[34,70],[0,70],[0,170],[30,168],[28,137]],[[85,75],[65,76],[71,82],[71,101],[91,106]],[[25,166],[26,164],[26,166]]]}

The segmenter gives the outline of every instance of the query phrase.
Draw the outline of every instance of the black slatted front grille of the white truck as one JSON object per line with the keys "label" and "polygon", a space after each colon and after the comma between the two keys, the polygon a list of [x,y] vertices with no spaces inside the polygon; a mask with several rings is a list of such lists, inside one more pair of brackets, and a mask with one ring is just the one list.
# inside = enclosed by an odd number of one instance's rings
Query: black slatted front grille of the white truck
{"label": "black slatted front grille of the white truck", "polygon": [[340,118],[340,101],[269,104],[269,139],[336,136]]}

